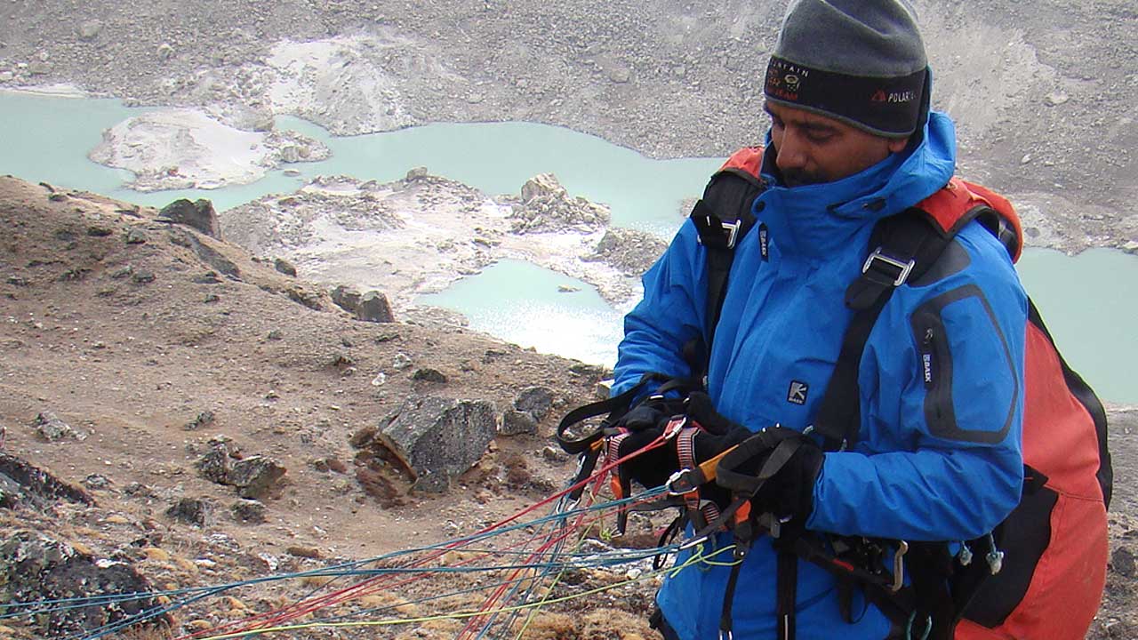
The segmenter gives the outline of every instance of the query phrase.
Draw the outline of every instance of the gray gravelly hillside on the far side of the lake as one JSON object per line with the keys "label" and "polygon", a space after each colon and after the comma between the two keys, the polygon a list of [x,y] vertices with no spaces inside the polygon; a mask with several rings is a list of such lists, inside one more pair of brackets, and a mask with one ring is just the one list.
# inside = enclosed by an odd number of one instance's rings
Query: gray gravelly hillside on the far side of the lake
{"label": "gray gravelly hillside on the far side of the lake", "polygon": [[[962,170],[1078,230],[1069,249],[1138,243],[1133,2],[915,5],[934,102],[959,122]],[[246,129],[280,113],[337,133],[520,120],[655,156],[725,155],[767,126],[757,79],[782,10],[782,0],[16,0],[0,6],[0,87],[69,82],[207,107]]]}

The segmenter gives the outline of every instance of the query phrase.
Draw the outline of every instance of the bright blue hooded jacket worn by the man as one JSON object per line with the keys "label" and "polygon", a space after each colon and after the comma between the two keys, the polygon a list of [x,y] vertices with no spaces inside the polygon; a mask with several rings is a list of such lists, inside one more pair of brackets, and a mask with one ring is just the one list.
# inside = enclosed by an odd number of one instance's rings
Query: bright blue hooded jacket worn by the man
{"label": "bright blue hooded jacket worn by the man", "polygon": [[[835,182],[785,188],[765,165],[772,187],[752,211],[768,230],[768,253],[753,230],[736,247],[711,350],[708,392],[721,413],[752,430],[811,424],[851,317],[844,289],[860,273],[874,224],[943,187],[955,145],[951,121],[933,113],[918,147]],[[859,442],[826,453],[808,528],[968,540],[1017,503],[1026,296],[1007,252],[978,223],[947,254],[879,318],[858,371]],[[681,347],[703,331],[706,259],[685,222],[625,318],[613,393],[645,371],[688,374]],[[935,363],[929,379],[925,354]],[[716,543],[729,544],[729,534]],[[776,637],[775,567],[769,539],[756,541],[735,591],[736,639]],[[799,639],[887,635],[889,622],[872,605],[856,602],[853,624],[841,617],[824,569],[799,563],[798,571]],[[718,637],[728,572],[701,563],[666,580],[657,599],[683,640]]]}

